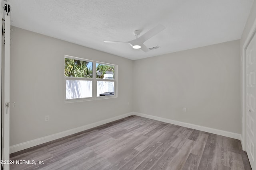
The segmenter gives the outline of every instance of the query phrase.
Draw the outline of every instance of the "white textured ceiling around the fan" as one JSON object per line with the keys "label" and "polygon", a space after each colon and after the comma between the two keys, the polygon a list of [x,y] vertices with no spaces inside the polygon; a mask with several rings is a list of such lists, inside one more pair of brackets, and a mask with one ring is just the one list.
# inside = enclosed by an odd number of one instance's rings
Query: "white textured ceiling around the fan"
{"label": "white textured ceiling around the fan", "polygon": [[[240,39],[254,0],[9,0],[12,25],[136,60]],[[144,44],[128,43],[162,24]]]}

